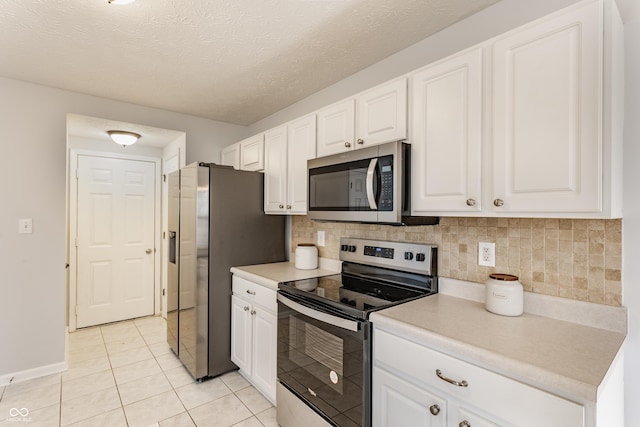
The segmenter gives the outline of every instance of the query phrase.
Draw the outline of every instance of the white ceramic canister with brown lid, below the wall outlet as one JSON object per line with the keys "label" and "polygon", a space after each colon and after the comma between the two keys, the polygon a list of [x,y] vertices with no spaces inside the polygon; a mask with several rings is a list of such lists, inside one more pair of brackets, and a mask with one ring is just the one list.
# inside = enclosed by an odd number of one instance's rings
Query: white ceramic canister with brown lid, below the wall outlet
{"label": "white ceramic canister with brown lid, below the wall outlet", "polygon": [[524,290],[518,276],[494,273],[485,283],[485,307],[502,316],[520,316],[524,310]]}

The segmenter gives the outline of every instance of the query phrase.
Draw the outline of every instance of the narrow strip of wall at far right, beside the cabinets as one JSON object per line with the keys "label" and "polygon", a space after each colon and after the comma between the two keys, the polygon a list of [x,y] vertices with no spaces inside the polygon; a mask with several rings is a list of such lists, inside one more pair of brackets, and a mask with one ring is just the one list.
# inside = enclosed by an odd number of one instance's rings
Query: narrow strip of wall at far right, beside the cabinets
{"label": "narrow strip of wall at far right, beside the cabinets", "polygon": [[640,425],[640,20],[626,23],[622,300],[629,310],[625,349],[626,425]]}

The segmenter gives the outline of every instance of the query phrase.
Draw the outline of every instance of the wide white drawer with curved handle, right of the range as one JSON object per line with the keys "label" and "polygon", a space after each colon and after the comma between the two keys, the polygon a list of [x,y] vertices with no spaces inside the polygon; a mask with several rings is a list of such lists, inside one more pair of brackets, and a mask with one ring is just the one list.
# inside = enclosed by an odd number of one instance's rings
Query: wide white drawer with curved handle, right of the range
{"label": "wide white drawer with curved handle, right of the range", "polygon": [[[584,408],[470,363],[374,329],[374,364],[518,426],[584,425]],[[440,372],[439,378],[436,370]],[[446,379],[462,383],[455,385]]]}

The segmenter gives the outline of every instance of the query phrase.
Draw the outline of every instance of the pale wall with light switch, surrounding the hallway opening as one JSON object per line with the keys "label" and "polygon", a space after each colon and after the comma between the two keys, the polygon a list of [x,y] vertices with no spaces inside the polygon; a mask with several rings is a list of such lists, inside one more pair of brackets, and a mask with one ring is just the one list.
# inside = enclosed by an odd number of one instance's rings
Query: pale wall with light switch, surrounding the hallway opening
{"label": "pale wall with light switch, surrounding the hallway opening", "polygon": [[[185,132],[187,162],[218,161],[247,128],[0,78],[0,384],[64,362],[67,113]],[[33,218],[33,234],[18,219]]]}

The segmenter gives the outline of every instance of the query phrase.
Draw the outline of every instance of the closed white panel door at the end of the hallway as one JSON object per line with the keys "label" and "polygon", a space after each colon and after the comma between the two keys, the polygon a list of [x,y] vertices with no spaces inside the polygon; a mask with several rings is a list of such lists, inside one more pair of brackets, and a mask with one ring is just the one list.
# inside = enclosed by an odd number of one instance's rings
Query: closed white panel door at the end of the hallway
{"label": "closed white panel door at the end of the hallway", "polygon": [[78,156],[77,327],[154,314],[155,163]]}

